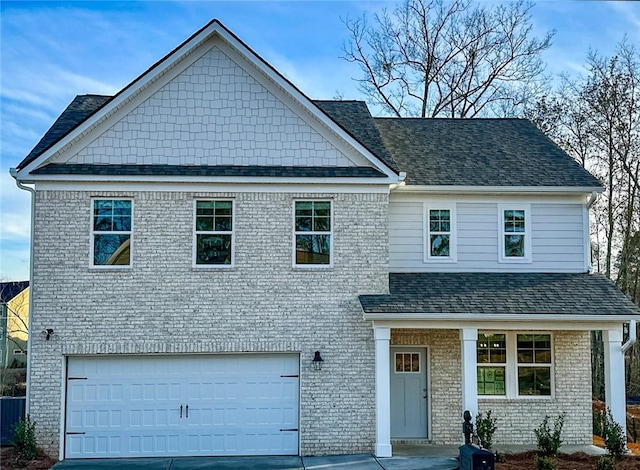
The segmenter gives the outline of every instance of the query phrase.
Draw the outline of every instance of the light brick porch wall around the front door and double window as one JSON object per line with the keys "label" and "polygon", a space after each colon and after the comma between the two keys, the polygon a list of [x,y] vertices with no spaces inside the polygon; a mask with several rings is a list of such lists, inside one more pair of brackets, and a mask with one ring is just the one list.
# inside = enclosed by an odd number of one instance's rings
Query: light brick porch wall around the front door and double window
{"label": "light brick porch wall around the front door and double window", "polygon": [[[567,413],[566,444],[591,443],[591,355],[588,332],[556,331],[555,396],[552,399],[479,399],[479,410],[498,418],[495,444],[534,444],[545,415]],[[426,345],[430,358],[431,440],[459,444],[462,439],[460,333],[458,330],[392,330],[392,345]]]}

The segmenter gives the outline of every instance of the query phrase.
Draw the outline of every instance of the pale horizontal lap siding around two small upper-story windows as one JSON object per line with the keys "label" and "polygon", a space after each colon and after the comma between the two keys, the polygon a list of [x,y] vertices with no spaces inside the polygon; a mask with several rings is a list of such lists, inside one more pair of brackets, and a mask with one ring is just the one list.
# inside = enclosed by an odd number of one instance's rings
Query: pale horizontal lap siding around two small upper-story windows
{"label": "pale horizontal lap siding around two small upper-story windows", "polygon": [[457,262],[429,261],[424,253],[424,200],[391,200],[389,269],[391,272],[528,271],[584,272],[584,206],[577,203],[526,203],[530,207],[531,262],[499,263],[499,202],[458,202]]}

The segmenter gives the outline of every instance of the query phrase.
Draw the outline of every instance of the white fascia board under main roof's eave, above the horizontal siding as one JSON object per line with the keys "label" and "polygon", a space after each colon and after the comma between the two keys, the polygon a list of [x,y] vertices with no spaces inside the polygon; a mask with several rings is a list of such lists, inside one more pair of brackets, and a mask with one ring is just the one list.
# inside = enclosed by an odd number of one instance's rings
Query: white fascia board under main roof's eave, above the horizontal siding
{"label": "white fascia board under main roof's eave, above the horizontal siding", "polygon": [[402,185],[394,189],[398,193],[433,193],[433,194],[549,194],[562,195],[568,193],[591,194],[602,192],[601,187],[590,186],[460,186],[460,185]]}

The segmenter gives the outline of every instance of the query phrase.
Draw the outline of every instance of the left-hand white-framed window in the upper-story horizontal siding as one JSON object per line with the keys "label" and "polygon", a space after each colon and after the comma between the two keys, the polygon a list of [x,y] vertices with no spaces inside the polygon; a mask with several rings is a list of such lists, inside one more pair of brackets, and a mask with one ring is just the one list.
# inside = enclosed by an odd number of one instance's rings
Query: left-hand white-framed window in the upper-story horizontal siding
{"label": "left-hand white-framed window in the upper-story horizontal siding", "polygon": [[425,262],[455,262],[455,206],[425,204]]}

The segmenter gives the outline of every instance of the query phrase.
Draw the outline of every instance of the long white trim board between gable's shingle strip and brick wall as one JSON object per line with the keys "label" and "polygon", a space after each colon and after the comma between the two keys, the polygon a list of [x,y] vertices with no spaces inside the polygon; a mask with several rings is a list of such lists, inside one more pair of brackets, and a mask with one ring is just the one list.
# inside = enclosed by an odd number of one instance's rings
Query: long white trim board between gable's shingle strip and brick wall
{"label": "long white trim board between gable's shingle strip and brick wall", "polygon": [[348,183],[328,182],[324,184],[292,182],[248,183],[207,181],[41,181],[36,183],[36,191],[87,191],[87,192],[186,192],[186,193],[367,193],[388,194],[389,186],[367,184],[367,182]]}

